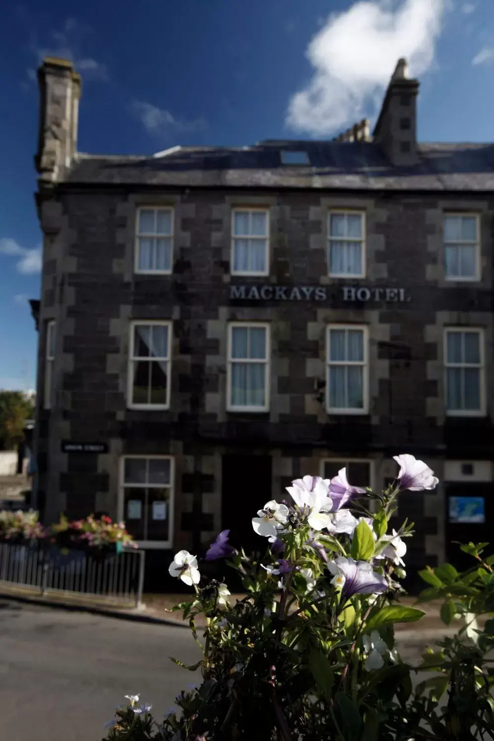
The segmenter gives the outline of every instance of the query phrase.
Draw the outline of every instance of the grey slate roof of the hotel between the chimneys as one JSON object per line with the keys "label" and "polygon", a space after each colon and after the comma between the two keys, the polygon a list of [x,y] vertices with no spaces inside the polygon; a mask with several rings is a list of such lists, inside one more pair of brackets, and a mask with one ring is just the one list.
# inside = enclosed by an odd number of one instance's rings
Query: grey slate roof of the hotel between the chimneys
{"label": "grey slate roof of the hotel between the chimneys", "polygon": [[[282,165],[304,150],[310,166]],[[414,167],[393,167],[373,142],[259,142],[253,147],[173,147],[160,156],[79,154],[73,185],[494,191],[494,144],[419,144]]]}

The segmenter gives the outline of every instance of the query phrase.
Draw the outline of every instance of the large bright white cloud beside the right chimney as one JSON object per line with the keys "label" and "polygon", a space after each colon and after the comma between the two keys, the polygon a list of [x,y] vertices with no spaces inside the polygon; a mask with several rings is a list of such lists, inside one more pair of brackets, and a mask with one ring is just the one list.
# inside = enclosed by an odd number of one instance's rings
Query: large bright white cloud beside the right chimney
{"label": "large bright white cloud beside the right chimney", "polygon": [[364,117],[381,96],[396,62],[410,73],[433,64],[446,0],[361,0],[332,13],[307,47],[313,77],[288,104],[287,124],[324,136]]}

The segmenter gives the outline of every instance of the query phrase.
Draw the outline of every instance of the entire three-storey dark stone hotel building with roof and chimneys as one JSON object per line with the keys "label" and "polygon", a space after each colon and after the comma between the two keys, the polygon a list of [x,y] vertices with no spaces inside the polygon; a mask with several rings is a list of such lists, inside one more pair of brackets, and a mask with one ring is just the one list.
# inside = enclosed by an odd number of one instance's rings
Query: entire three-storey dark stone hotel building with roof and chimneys
{"label": "entire three-storey dark stone hotel building with roof and chimneys", "polygon": [[402,60],[372,137],[155,156],[78,153],[79,76],[39,82],[44,519],[248,547],[291,479],[381,489],[407,452],[441,479],[401,497],[408,562],[488,539],[494,147],[418,144]]}

